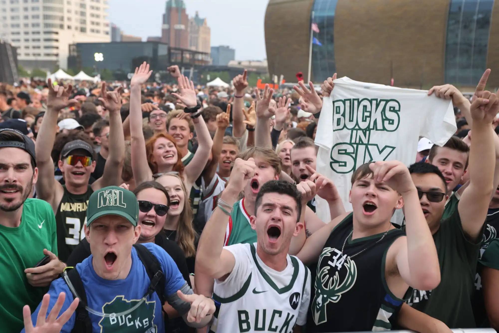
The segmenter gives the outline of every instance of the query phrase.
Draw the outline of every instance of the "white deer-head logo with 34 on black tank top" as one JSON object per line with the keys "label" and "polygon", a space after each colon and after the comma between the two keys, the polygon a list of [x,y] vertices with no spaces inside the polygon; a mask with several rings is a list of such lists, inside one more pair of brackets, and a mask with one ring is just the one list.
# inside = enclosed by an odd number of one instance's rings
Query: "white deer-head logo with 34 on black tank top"
{"label": "white deer-head logo with 34 on black tank top", "polygon": [[[337,255],[333,257],[334,263],[328,262],[328,265],[322,267],[317,273],[315,278],[315,296],[313,299],[313,320],[315,325],[325,323],[327,321],[326,305],[329,302],[338,303],[341,296],[349,291],[355,281],[357,280],[357,266],[355,262],[346,258],[346,256],[341,257],[342,253],[334,248],[324,248],[320,257],[317,268],[321,267],[320,264],[325,257],[331,257],[331,253],[336,252]],[[340,258],[339,260],[337,260]],[[338,270],[334,272],[331,277],[332,272],[330,270],[338,267]],[[338,271],[341,267],[346,269],[346,275],[343,281],[340,281]]]}

